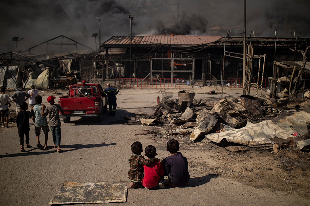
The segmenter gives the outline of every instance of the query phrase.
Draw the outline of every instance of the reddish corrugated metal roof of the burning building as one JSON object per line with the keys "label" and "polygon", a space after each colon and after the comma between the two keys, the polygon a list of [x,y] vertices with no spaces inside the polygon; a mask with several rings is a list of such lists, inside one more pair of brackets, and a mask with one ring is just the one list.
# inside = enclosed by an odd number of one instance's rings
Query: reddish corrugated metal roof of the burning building
{"label": "reddish corrugated metal roof of the burning building", "polygon": [[[132,45],[173,45],[195,46],[210,44],[218,41],[223,36],[191,36],[191,35],[157,35],[157,36],[132,36]],[[112,36],[102,44],[104,47],[130,45],[130,36]]]}

